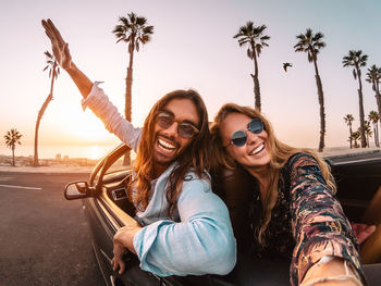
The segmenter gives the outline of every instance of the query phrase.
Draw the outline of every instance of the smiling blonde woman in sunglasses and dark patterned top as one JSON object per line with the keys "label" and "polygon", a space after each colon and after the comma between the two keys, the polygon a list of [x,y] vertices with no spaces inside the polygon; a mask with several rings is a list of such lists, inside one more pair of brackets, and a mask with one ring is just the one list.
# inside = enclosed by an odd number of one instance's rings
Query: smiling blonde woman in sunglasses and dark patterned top
{"label": "smiling blonde woman in sunglasses and dark patterned top", "polygon": [[251,241],[245,252],[287,259],[291,285],[362,285],[357,240],[334,196],[330,166],[314,151],[278,140],[257,109],[224,104],[211,134],[216,164],[239,165],[253,179],[247,210]]}

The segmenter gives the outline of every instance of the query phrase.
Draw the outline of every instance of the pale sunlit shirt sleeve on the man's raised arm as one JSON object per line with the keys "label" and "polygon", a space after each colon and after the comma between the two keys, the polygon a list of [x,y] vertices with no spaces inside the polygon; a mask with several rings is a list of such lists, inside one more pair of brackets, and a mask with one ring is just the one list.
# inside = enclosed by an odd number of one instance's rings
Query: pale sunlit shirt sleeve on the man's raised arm
{"label": "pale sunlit shirt sleeve on the man's raised arm", "polygon": [[98,87],[99,84],[101,82],[94,83],[90,94],[82,100],[82,108],[85,110],[88,107],[103,122],[106,129],[136,151],[142,129],[135,128],[130,121],[121,115],[103,89]]}

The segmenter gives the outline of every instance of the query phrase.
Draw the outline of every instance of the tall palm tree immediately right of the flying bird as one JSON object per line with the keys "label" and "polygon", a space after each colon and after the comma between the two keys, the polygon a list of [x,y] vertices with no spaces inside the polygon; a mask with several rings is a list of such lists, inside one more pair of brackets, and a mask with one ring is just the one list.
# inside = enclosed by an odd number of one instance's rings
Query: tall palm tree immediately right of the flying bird
{"label": "tall palm tree immediately right of the flying bird", "polygon": [[318,97],[320,105],[320,140],[319,140],[319,152],[324,149],[324,136],[325,136],[325,112],[324,112],[324,95],[323,87],[321,84],[319,70],[318,70],[318,53],[319,50],[325,47],[325,42],[321,39],[323,34],[318,32],[314,35],[312,29],[307,28],[306,34],[299,34],[296,36],[298,42],[294,46],[295,52],[307,52],[308,62],[312,62],[315,66],[315,78],[318,87]]}

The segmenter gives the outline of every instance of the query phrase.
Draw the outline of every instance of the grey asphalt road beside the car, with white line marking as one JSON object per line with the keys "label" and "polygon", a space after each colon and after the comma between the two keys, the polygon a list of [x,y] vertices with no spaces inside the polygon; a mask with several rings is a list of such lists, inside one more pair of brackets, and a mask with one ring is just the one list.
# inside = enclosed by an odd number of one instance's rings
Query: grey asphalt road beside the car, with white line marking
{"label": "grey asphalt road beside the car, with white line marking", "polygon": [[63,197],[87,178],[0,172],[0,285],[105,285],[82,202]]}

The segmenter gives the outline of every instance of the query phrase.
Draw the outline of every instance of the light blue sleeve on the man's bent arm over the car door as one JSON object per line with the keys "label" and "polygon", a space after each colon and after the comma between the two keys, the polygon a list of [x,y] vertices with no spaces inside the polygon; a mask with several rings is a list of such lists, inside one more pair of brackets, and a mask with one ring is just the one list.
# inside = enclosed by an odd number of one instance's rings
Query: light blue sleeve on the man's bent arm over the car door
{"label": "light blue sleeve on the man's bent arm over the car door", "polygon": [[159,276],[232,271],[236,244],[229,212],[209,184],[184,182],[177,208],[181,222],[158,221],[135,235],[140,268]]}

